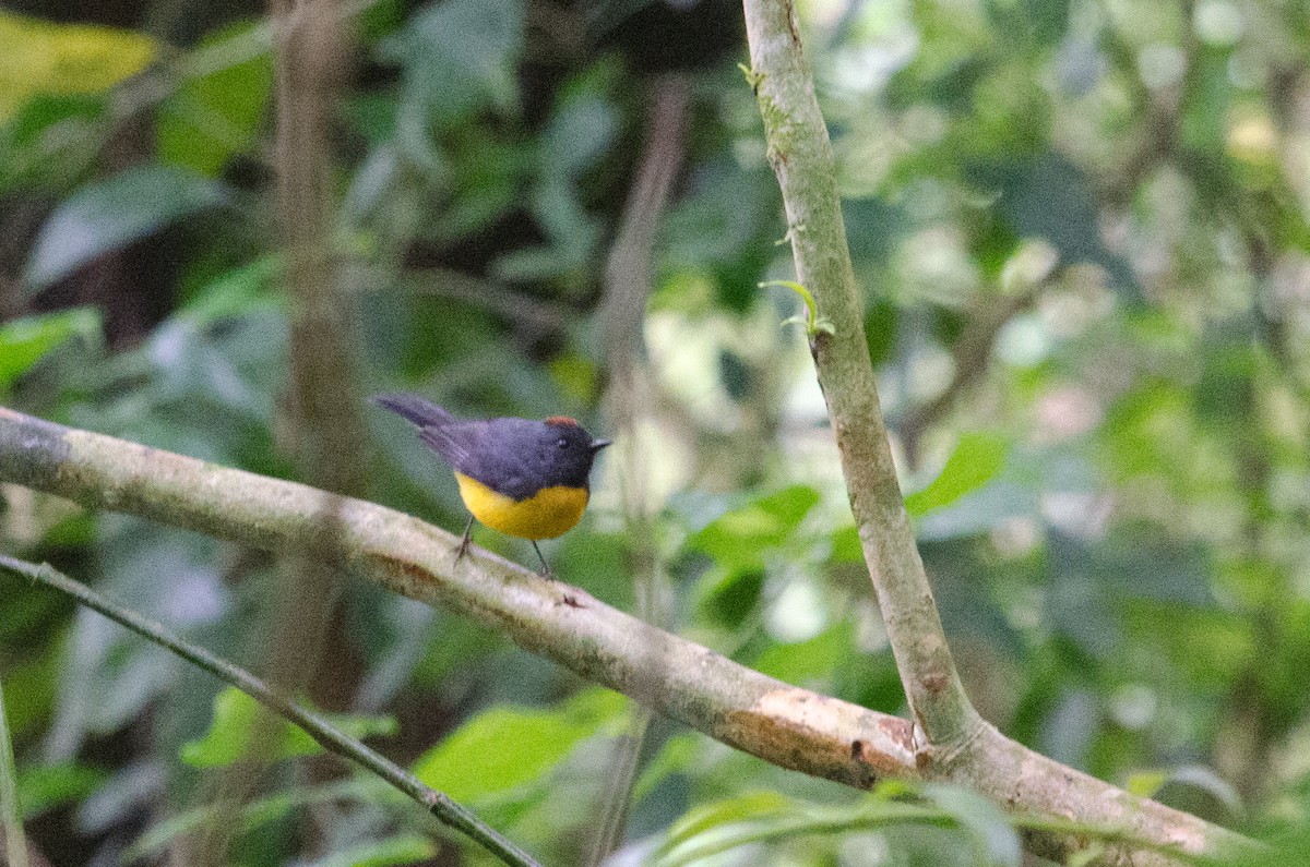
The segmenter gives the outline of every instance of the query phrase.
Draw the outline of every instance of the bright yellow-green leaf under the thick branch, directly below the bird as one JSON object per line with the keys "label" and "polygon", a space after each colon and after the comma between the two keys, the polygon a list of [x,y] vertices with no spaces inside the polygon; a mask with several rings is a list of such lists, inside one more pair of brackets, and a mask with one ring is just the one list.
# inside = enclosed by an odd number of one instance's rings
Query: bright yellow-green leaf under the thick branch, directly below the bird
{"label": "bright yellow-green leaf under the thick branch, directly below the bird", "polygon": [[549,773],[624,707],[588,690],[555,711],[491,707],[414,762],[414,775],[455,800],[510,794]]}

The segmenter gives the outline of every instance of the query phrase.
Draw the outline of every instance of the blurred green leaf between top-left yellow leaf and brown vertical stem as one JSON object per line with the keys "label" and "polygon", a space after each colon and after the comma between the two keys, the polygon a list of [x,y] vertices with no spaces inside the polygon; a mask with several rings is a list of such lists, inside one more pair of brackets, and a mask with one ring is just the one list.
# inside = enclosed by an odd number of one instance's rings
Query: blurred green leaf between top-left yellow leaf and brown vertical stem
{"label": "blurred green leaf between top-left yellow leaf and brown vertical stem", "polygon": [[[199,48],[229,51],[250,42],[255,22],[206,37]],[[272,54],[250,52],[241,63],[193,77],[165,98],[155,123],[160,160],[216,177],[228,160],[248,151],[272,93]]]}

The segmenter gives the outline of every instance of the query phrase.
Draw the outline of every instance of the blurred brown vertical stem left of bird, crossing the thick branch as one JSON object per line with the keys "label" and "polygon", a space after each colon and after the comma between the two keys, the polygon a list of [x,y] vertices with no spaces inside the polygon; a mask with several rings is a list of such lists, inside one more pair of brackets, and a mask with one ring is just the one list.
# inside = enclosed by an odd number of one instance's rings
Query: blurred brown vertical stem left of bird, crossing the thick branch
{"label": "blurred brown vertical stem left of bird, crossing the thick branch", "polygon": [[[341,498],[364,487],[363,419],[351,346],[351,300],[342,291],[331,245],[331,130],[337,96],[350,71],[345,16],[335,0],[271,0],[276,69],[276,202],[287,259],[290,299],[290,382],[279,419],[279,440],[296,474],[324,491],[314,542],[279,558],[270,600],[265,674],[295,694],[310,684],[324,656],[328,626],[343,587],[337,559]],[[341,630],[333,630],[338,635]],[[333,660],[350,659],[348,648]],[[324,677],[310,688],[316,703],[339,707],[348,678]],[[346,686],[348,689],[348,686]],[[270,715],[259,722],[274,724]],[[265,737],[255,735],[253,744]],[[257,748],[258,749],[258,748]],[[263,777],[258,754],[219,783],[217,802],[232,809]],[[219,811],[219,816],[223,811]],[[200,863],[223,863],[232,822],[220,817],[193,847]]]}

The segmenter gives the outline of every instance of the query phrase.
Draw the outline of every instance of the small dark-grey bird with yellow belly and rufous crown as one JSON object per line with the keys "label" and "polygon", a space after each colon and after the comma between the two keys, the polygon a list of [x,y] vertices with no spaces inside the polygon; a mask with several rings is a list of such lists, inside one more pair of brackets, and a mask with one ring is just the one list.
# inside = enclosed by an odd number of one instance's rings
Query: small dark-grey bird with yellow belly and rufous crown
{"label": "small dark-grey bird with yellow belly and rufous crown", "polygon": [[566,415],[460,419],[418,394],[372,402],[418,427],[419,440],[455,471],[469,509],[455,563],[468,553],[473,521],[532,542],[541,574],[554,578],[537,542],[572,529],[591,496],[591,466],[609,440],[592,439]]}

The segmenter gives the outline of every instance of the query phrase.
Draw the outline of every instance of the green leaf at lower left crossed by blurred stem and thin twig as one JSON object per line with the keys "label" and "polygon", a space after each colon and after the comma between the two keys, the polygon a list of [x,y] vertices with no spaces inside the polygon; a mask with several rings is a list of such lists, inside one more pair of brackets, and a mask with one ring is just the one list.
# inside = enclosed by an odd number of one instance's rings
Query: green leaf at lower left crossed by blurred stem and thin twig
{"label": "green leaf at lower left crossed by blurred stem and thin twig", "polygon": [[[223,767],[250,752],[259,702],[234,686],[214,697],[214,718],[204,736],[182,744],[181,758],[193,767]],[[272,711],[269,711],[270,714]],[[355,739],[394,735],[396,720],[389,716],[326,715],[333,726]],[[272,720],[261,732],[271,747],[263,757],[269,761],[312,756],[322,748],[303,728],[283,719]]]}

